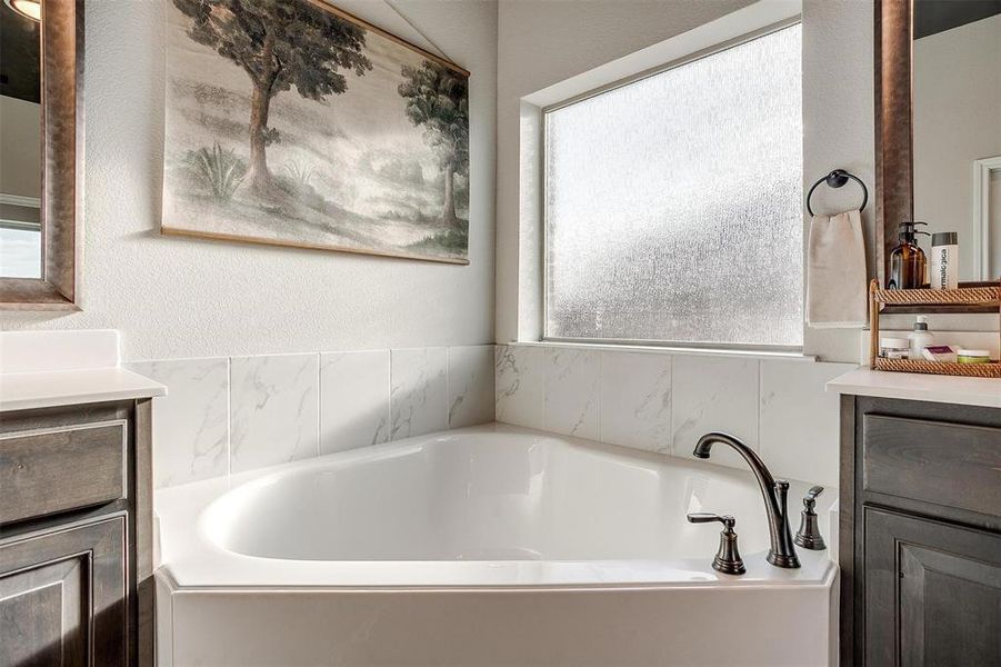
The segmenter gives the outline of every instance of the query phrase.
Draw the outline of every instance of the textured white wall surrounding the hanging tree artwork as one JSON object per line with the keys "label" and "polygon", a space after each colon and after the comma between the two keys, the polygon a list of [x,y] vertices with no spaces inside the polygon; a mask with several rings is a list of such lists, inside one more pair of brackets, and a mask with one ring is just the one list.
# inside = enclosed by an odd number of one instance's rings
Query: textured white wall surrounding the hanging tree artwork
{"label": "textured white wall surrounding the hanging tree artwork", "polygon": [[[394,0],[470,81],[470,266],[161,237],[164,2],[87,2],[83,310],[4,329],[114,328],[128,360],[492,342],[497,4]],[[337,4],[419,46],[382,0]]]}

